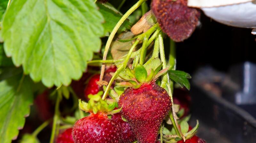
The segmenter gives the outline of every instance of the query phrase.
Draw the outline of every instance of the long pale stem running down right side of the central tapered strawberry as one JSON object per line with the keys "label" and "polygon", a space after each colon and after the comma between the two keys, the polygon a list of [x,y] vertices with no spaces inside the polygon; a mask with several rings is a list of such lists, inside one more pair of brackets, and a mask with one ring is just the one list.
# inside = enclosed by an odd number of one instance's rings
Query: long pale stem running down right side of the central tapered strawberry
{"label": "long pale stem running down right side of the central tapered strawberry", "polygon": [[[158,38],[159,38],[160,58],[161,58],[161,61],[163,62],[163,69],[164,69],[164,68],[166,68],[166,61],[165,61],[165,55],[164,55],[164,41],[163,41],[163,37],[162,37],[161,34],[159,34]],[[165,85],[163,85],[163,86],[165,86],[165,87],[167,86],[168,94],[171,97],[171,101],[173,103],[172,89],[171,89],[171,85],[170,85],[170,82],[169,82],[168,73],[166,75],[164,75],[163,80],[165,82]],[[163,81],[162,81],[162,83],[163,83]],[[161,87],[162,87],[162,84],[161,84]],[[171,116],[170,116],[171,121],[172,121],[172,125],[173,125],[177,135],[180,136],[181,138],[183,138],[183,140],[185,141],[185,136],[182,134],[182,132],[180,130],[179,124],[177,122],[177,117],[175,115],[176,115],[176,113],[175,113],[175,110],[174,110],[174,105],[172,104],[172,111],[171,111]]]}

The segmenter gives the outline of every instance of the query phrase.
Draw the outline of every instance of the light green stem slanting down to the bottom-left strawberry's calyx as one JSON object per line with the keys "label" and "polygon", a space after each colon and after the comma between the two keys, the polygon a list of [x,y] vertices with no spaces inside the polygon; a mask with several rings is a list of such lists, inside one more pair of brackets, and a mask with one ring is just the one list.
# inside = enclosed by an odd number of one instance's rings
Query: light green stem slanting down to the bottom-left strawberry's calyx
{"label": "light green stem slanting down to the bottom-left strawberry's calyx", "polygon": [[112,76],[112,78],[110,79],[110,81],[109,81],[109,83],[108,83],[108,86],[107,86],[107,88],[106,88],[106,90],[105,90],[105,92],[104,92],[104,94],[103,94],[103,97],[102,97],[103,100],[106,99],[106,97],[107,97],[107,95],[108,95],[108,91],[109,91],[109,89],[110,89],[112,83],[113,83],[114,80],[116,79],[116,77],[120,74],[121,71],[123,71],[123,70],[126,68],[127,63],[128,63],[128,61],[129,61],[129,59],[130,59],[130,57],[131,57],[131,55],[132,55],[132,52],[133,52],[134,48],[137,46],[137,44],[138,44],[139,42],[140,42],[140,39],[137,39],[137,40],[134,42],[134,44],[132,45],[131,49],[129,50],[129,53],[127,54],[127,56],[126,56],[124,62],[122,63],[121,67],[119,67],[119,68],[116,70],[115,74],[114,74],[114,75]]}

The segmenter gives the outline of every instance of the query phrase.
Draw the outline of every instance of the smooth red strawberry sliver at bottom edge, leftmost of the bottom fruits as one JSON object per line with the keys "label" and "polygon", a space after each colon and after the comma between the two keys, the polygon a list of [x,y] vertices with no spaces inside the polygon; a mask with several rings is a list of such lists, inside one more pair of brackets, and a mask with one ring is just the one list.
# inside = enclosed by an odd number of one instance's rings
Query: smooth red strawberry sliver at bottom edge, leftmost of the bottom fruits
{"label": "smooth red strawberry sliver at bottom edge, leftmost of the bottom fruits", "polygon": [[56,143],[74,143],[72,137],[72,128],[69,128],[58,135]]}

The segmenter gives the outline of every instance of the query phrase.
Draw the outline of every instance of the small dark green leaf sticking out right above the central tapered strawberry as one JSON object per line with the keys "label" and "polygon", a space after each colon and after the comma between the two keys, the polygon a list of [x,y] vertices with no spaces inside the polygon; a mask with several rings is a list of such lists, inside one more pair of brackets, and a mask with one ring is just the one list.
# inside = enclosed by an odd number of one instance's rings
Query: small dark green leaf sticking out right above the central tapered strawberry
{"label": "small dark green leaf sticking out right above the central tapered strawberry", "polygon": [[178,83],[181,87],[186,87],[188,90],[190,89],[190,83],[188,79],[191,78],[191,76],[184,72],[179,70],[169,70],[169,77],[174,82]]}

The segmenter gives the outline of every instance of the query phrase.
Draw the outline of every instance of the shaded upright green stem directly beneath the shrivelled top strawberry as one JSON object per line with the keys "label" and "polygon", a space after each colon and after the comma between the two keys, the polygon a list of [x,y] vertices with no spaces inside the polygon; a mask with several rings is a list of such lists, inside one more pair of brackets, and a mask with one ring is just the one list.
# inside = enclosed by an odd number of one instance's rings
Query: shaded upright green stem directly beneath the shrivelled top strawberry
{"label": "shaded upright green stem directly beneath the shrivelled top strawberry", "polygon": [[169,54],[169,63],[170,63],[170,69],[175,70],[176,69],[176,44],[175,42],[170,39],[170,54]]}

